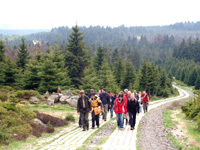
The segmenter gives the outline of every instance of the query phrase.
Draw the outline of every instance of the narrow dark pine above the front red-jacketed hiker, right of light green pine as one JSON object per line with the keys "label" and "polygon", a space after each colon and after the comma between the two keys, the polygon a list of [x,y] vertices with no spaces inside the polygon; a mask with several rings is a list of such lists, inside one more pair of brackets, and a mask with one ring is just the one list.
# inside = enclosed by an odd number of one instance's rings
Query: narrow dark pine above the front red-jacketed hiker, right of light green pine
{"label": "narrow dark pine above the front red-jacketed hiker, right of light green pine", "polygon": [[119,56],[117,61],[114,63],[114,76],[118,86],[120,86],[121,84],[123,73],[124,73],[123,61],[121,56]]}

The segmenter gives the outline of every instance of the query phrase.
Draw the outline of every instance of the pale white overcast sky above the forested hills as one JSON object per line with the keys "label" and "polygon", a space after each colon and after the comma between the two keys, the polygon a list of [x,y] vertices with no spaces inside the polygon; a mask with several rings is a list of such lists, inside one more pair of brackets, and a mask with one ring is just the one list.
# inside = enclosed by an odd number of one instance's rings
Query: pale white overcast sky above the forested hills
{"label": "pale white overcast sky above the forested hills", "polygon": [[199,0],[1,0],[0,29],[200,21]]}

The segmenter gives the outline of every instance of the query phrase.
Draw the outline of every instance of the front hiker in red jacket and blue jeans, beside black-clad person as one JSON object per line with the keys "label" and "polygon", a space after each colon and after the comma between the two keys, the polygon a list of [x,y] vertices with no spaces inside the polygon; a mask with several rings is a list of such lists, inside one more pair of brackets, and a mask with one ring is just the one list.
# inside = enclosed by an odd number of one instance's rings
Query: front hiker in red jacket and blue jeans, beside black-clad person
{"label": "front hiker in red jacket and blue jeans, beside black-clad person", "polygon": [[115,114],[117,115],[117,125],[120,130],[124,128],[124,114],[127,114],[127,103],[125,102],[124,93],[119,92],[118,98],[115,100]]}

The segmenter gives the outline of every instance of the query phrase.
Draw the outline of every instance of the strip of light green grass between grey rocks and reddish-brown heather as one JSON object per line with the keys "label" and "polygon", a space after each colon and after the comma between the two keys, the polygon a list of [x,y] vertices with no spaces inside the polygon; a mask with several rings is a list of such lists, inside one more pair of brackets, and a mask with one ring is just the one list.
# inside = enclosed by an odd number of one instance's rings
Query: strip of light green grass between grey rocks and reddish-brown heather
{"label": "strip of light green grass between grey rocks and reddish-brown heather", "polygon": [[44,104],[36,104],[36,105],[26,105],[24,106],[27,109],[30,109],[32,111],[76,111],[75,108],[69,107],[66,105],[54,105],[54,106],[48,106]]}

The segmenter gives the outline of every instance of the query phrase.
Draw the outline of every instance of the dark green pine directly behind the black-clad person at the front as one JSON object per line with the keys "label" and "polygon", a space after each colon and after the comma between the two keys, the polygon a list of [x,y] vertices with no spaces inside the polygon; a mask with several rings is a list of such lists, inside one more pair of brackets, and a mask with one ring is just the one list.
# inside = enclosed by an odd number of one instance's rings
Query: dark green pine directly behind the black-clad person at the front
{"label": "dark green pine directly behind the black-clad person at the front", "polygon": [[128,88],[128,89],[132,89],[133,88],[133,84],[135,82],[135,69],[133,67],[133,63],[130,61],[127,61],[125,64],[125,72],[124,72],[124,76],[123,76],[123,80],[122,80],[122,88]]}

